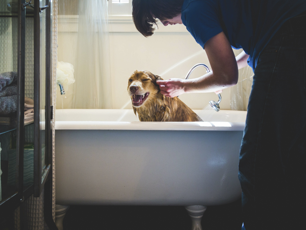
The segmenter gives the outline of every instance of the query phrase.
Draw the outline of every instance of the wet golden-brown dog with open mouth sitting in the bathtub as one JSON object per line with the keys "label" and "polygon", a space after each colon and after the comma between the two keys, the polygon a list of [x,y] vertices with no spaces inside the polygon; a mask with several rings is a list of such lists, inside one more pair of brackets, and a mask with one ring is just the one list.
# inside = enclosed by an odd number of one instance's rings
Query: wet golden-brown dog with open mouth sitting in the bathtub
{"label": "wet golden-brown dog with open mouth sitting in the bathtub", "polygon": [[137,70],[129,78],[128,92],[140,121],[202,121],[178,97],[162,95],[157,80],[163,79],[149,71]]}

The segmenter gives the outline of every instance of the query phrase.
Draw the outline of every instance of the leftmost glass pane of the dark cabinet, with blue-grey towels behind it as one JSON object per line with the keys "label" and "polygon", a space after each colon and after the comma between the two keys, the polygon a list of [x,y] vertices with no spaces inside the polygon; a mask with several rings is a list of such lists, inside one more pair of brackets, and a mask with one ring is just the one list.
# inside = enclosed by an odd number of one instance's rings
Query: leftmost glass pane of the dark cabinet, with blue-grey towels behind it
{"label": "leftmost glass pane of the dark cabinet, with blue-grey towels behind it", "polygon": [[[0,154],[1,200],[18,191],[15,135],[17,117],[17,12],[7,1],[0,1]],[[3,82],[3,84],[2,84]],[[15,136],[15,138],[14,138]]]}

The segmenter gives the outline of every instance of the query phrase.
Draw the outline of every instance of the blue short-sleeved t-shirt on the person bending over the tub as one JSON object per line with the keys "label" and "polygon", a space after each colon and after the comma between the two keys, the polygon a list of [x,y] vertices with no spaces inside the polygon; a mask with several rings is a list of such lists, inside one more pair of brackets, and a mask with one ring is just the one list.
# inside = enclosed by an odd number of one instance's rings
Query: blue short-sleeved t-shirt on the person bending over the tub
{"label": "blue short-sleeved t-shirt on the person bending over the tub", "polygon": [[182,21],[203,48],[225,33],[231,46],[242,48],[256,67],[260,52],[282,24],[306,10],[306,0],[185,0]]}

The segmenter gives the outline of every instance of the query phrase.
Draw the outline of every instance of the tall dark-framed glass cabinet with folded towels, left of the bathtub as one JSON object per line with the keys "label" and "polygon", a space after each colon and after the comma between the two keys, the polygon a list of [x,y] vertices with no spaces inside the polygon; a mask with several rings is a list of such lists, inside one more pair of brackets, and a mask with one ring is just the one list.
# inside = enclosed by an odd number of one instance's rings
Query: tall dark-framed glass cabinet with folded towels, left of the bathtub
{"label": "tall dark-framed glass cabinet with folded towels, left of the bathtub", "polygon": [[[44,191],[52,219],[51,0],[0,0],[1,223]],[[44,188],[44,189],[43,189]],[[8,227],[9,229],[9,227]]]}

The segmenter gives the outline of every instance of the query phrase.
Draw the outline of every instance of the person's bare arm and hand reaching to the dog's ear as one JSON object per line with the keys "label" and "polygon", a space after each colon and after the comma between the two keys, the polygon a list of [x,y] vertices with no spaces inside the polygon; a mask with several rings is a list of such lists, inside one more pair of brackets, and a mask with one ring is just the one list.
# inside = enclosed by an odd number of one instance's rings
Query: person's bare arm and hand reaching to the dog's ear
{"label": "person's bare arm and hand reaching to the dog's ear", "polygon": [[225,34],[221,32],[209,39],[204,49],[212,71],[196,79],[157,81],[162,94],[176,97],[183,93],[218,92],[237,84],[237,61]]}

